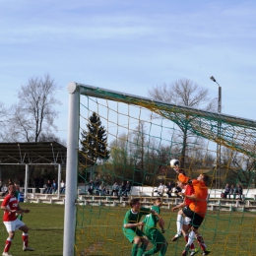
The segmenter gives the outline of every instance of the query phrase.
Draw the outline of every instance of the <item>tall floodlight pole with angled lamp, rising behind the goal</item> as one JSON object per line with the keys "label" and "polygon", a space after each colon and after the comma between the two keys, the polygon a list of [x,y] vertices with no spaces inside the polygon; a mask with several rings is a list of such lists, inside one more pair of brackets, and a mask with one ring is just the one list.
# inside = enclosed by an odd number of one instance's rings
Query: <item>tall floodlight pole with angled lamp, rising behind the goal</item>
{"label": "tall floodlight pole with angled lamp, rising behind the goal", "polygon": [[[219,86],[219,95],[218,95],[218,113],[222,113],[222,87],[219,85],[219,83],[216,81],[214,76],[210,77],[212,81],[214,81]],[[221,126],[222,123],[218,121],[218,137],[219,137],[219,143],[217,145],[217,162],[219,167],[219,188],[221,188],[221,164],[222,164],[222,140],[221,140]],[[218,186],[218,183],[217,183]]]}

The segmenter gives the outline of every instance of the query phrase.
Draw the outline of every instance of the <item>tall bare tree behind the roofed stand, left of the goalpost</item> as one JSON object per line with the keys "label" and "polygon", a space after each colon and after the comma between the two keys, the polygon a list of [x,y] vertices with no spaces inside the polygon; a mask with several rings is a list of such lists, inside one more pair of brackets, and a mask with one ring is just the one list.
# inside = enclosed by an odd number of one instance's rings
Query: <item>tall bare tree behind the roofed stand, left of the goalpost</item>
{"label": "tall bare tree behind the roofed stand, left of the goalpost", "polygon": [[60,104],[56,91],[60,88],[49,74],[29,79],[26,86],[18,92],[19,102],[12,106],[10,136],[12,141],[37,142],[40,134],[50,134],[56,130],[54,120],[58,112],[54,109]]}

